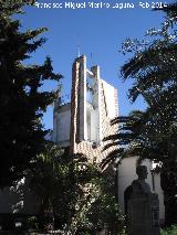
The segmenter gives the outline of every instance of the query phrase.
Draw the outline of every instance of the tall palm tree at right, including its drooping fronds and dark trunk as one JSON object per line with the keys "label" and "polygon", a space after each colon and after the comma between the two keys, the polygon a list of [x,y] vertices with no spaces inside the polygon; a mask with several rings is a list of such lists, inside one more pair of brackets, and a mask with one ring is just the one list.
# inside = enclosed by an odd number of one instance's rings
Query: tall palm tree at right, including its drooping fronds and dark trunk
{"label": "tall palm tree at right, including its drooping fronds and dark trunk", "polygon": [[133,79],[129,99],[142,96],[147,104],[144,111],[119,117],[117,135],[112,145],[121,143],[121,157],[139,156],[160,163],[162,188],[165,194],[166,224],[177,222],[177,32],[176,4],[164,8],[167,18],[159,30],[148,30],[146,39],[126,40],[123,53],[133,57],[122,67],[123,79]]}

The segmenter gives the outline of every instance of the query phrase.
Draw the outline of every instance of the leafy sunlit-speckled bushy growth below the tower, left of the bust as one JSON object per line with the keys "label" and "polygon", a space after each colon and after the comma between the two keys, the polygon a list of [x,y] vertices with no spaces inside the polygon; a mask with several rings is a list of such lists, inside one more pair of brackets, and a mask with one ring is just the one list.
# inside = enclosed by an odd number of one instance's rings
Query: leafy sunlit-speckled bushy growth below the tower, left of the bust
{"label": "leafy sunlit-speckled bushy growth below the tower, left of the bust", "polygon": [[67,150],[48,143],[29,178],[39,196],[43,229],[54,225],[63,234],[74,235],[103,228],[105,222],[113,226],[123,218],[108,180],[82,154],[70,156]]}

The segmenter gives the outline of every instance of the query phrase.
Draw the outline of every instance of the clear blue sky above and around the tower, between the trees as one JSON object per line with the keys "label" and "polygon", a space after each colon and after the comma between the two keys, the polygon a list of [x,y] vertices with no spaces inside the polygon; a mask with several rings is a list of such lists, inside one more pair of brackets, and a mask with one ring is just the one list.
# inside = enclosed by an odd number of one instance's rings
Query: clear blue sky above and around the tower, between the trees
{"label": "clear blue sky above and around the tower, between the trees", "polygon": [[[85,8],[67,8],[71,2],[82,3]],[[110,8],[101,8],[100,6],[97,9],[92,9],[92,4],[88,2],[108,3]],[[125,39],[142,39],[146,30],[158,28],[163,22],[164,14],[159,11],[152,11],[153,1],[142,1],[149,4],[149,8],[142,8],[139,2],[137,0],[41,0],[39,3],[48,3],[51,8],[44,8],[42,4],[39,8],[25,8],[25,14],[20,17],[22,30],[41,26],[49,29],[43,34],[48,39],[46,43],[32,54],[30,63],[41,64],[44,57],[50,55],[54,72],[60,72],[64,76],[62,81],[63,93],[69,94],[72,63],[77,56],[77,45],[80,44],[81,54],[87,56],[87,66],[100,65],[102,78],[118,89],[121,115],[127,115],[135,108],[142,109],[144,107],[143,100],[131,105],[127,99],[131,83],[123,83],[118,78],[119,67],[127,60],[118,50]],[[54,3],[58,4],[54,6]],[[121,9],[121,3],[124,3],[124,7],[126,3],[131,3],[134,4],[134,8]],[[60,6],[62,8],[53,8]],[[119,8],[113,8],[113,6]],[[55,87],[56,84],[53,83],[44,85],[44,88]],[[45,128],[52,128],[52,111],[53,108],[49,107],[44,114]]]}

